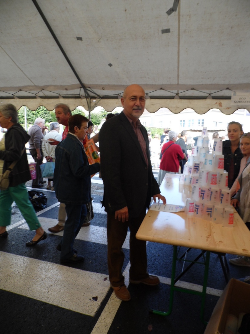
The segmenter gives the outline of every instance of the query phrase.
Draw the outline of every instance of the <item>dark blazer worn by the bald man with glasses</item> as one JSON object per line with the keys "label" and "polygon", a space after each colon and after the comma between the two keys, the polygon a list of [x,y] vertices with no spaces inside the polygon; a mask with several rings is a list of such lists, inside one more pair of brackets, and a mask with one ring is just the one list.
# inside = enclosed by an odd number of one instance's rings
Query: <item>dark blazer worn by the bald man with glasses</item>
{"label": "dark blazer worn by the bald man with glasses", "polygon": [[151,197],[160,193],[152,173],[147,130],[143,126],[140,129],[147,146],[148,164],[123,112],[101,127],[99,148],[106,212],[127,206],[129,216],[137,217],[146,206],[149,207]]}

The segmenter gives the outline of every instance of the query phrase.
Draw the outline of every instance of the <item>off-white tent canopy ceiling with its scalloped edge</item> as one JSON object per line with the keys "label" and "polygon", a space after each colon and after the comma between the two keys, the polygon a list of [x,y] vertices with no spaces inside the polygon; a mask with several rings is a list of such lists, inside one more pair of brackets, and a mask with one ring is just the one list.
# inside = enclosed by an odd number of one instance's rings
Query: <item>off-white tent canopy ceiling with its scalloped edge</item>
{"label": "off-white tent canopy ceiling with its scalloped edge", "polygon": [[[180,0],[168,16],[172,6],[173,0],[2,1],[0,101],[50,110],[63,101],[91,110],[93,103],[80,98],[87,92],[112,111],[120,101],[108,97],[138,83],[151,98],[150,112],[192,106],[203,114],[221,105],[231,114],[238,109],[226,100],[231,90],[250,90],[249,0]],[[175,94],[182,99],[169,99]],[[204,100],[208,94],[214,99]]]}

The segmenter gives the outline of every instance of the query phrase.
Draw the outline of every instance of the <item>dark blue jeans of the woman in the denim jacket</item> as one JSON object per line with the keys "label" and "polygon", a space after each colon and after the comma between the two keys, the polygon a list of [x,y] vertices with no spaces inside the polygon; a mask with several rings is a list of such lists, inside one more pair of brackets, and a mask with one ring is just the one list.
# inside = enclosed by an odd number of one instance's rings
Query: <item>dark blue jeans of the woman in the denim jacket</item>
{"label": "dark blue jeans of the woman in the denim jacket", "polygon": [[67,220],[65,221],[63,238],[61,241],[61,260],[69,259],[74,255],[73,243],[87,214],[85,204],[66,204],[65,209]]}

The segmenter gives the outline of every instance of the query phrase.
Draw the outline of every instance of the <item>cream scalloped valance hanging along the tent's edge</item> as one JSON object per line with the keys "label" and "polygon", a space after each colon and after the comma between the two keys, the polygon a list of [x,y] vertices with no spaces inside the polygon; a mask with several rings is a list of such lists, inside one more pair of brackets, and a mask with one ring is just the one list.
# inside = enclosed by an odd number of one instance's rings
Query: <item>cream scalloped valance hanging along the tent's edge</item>
{"label": "cream scalloped valance hanging along the tent's edge", "polygon": [[[65,103],[71,110],[78,106],[82,106],[88,110],[86,99],[2,99],[0,104],[12,103],[17,109],[22,106],[28,107],[30,110],[36,110],[39,106],[44,106],[48,110],[54,110],[58,103]],[[116,99],[102,99],[96,102],[91,102],[91,110],[95,107],[101,106],[108,112],[112,112],[116,107],[121,107],[120,100]],[[192,108],[197,114],[205,114],[208,110],[216,108],[225,115],[233,114],[237,109],[243,106],[231,105],[231,100],[182,100],[182,99],[148,99],[146,101],[146,109],[150,113],[155,113],[160,108],[168,108],[172,113],[179,114],[186,108]],[[248,106],[249,107],[249,106]],[[245,107],[248,111],[250,108]]]}

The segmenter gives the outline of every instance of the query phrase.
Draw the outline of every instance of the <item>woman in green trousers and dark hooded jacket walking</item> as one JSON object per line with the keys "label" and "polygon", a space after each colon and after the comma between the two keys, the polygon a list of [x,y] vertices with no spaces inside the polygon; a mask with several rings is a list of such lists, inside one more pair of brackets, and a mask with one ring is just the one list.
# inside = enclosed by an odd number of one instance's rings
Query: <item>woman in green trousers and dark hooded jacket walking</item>
{"label": "woman in green trousers and dark hooded jacket walking", "polygon": [[0,106],[0,126],[7,132],[0,141],[0,174],[3,174],[13,161],[17,161],[10,173],[10,186],[0,191],[0,239],[7,238],[6,226],[11,222],[11,204],[15,201],[30,230],[35,230],[33,239],[26,246],[34,246],[47,238],[46,232],[29,200],[25,182],[31,179],[25,150],[30,136],[18,123],[18,114],[12,104]]}

